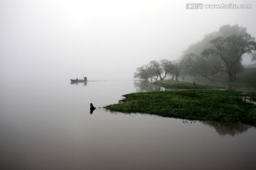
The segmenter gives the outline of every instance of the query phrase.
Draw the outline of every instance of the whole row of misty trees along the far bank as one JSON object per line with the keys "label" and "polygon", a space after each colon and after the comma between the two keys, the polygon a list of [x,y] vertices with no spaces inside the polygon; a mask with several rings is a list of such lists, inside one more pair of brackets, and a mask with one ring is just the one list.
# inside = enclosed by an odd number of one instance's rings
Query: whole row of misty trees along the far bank
{"label": "whole row of misty trees along the far bank", "polygon": [[247,33],[246,28],[226,25],[190,45],[178,61],[153,60],[138,67],[134,78],[164,80],[169,74],[176,81],[179,76],[184,79],[187,75],[213,80],[215,74],[225,72],[231,82],[243,69],[241,61],[244,55],[256,60],[255,38]]}

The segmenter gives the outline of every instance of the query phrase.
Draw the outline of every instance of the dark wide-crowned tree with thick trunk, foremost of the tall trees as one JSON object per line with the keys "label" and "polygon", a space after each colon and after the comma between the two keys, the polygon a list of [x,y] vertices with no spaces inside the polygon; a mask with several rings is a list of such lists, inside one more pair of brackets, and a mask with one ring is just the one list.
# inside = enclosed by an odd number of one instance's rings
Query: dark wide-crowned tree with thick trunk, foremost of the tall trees
{"label": "dark wide-crowned tree with thick trunk, foremost of the tall trees", "polygon": [[[228,73],[228,80],[233,81],[236,74],[242,70],[242,55],[246,53],[255,56],[256,42],[250,34],[230,35],[227,38],[219,36],[210,41],[212,48],[203,50],[205,57],[220,57],[224,69]],[[252,57],[253,59],[253,57]]]}

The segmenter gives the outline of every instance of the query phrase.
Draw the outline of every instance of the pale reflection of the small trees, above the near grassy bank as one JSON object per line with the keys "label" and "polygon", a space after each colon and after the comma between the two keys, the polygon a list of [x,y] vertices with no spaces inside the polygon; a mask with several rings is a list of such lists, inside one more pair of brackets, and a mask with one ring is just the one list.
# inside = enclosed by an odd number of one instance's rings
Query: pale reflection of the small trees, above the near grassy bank
{"label": "pale reflection of the small trees, above the near grassy bank", "polygon": [[161,86],[156,86],[144,81],[134,81],[134,88],[137,92],[146,92],[146,91],[164,91],[164,88]]}

